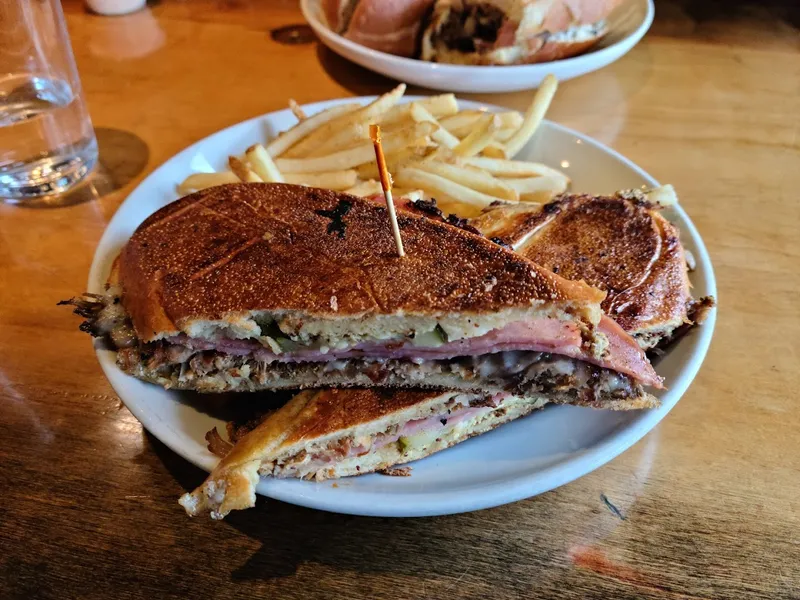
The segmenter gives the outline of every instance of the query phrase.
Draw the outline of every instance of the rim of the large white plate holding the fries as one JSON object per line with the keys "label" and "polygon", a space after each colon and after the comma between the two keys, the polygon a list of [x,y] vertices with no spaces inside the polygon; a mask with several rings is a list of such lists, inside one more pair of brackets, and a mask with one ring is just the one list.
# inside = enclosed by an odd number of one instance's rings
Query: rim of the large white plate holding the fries
{"label": "rim of the large white plate holding the fries", "polygon": [[[335,104],[354,101],[366,103],[374,98],[374,96],[340,98],[308,104],[304,106],[304,108],[307,109],[309,113],[314,113],[317,110],[321,110]],[[411,102],[419,98],[421,97],[407,96],[404,98],[404,101]],[[485,108],[492,111],[508,110],[492,104],[471,102],[463,99],[459,99],[459,103],[464,108]],[[190,145],[186,149],[178,152],[165,161],[161,166],[156,168],[153,172],[151,172],[145,179],[143,179],[136,189],[129,194],[128,198],[126,198],[126,200],[123,201],[123,203],[117,209],[117,212],[109,221],[106,230],[103,233],[100,242],[98,243],[89,272],[89,291],[101,291],[102,284],[107,275],[107,266],[109,263],[108,256],[110,252],[108,246],[112,245],[111,242],[112,238],[114,237],[115,222],[118,217],[124,215],[124,211],[122,209],[126,206],[126,203],[128,203],[132,198],[135,198],[139,190],[145,188],[150,178],[154,178],[162,170],[169,170],[170,163],[172,161],[178,161],[184,154],[191,154],[198,147],[208,143],[214,136],[221,135],[226,131],[238,127],[258,127],[265,119],[279,113],[286,114],[288,112],[288,109],[284,109],[282,111],[266,113],[264,115],[242,121],[212,133],[206,138],[203,138],[202,140]],[[547,124],[547,126],[559,130],[564,134],[574,136],[575,138],[581,140],[582,143],[591,145],[596,149],[610,155],[622,163],[625,167],[639,175],[648,183],[648,185],[658,185],[658,182],[651,175],[615,150],[571,128],[547,120],[544,122]],[[697,261],[697,271],[702,272],[706,279],[706,290],[704,293],[712,295],[718,299],[716,278],[705,244],[696,227],[694,226],[694,223],[692,223],[691,219],[688,217],[683,208],[680,205],[677,205],[673,207],[673,209],[681,220],[680,229],[684,241],[686,240],[687,236],[692,241],[695,259]],[[683,366],[680,375],[671,382],[670,390],[667,392],[666,397],[662,397],[662,405],[659,408],[642,411],[635,419],[628,423],[622,431],[610,434],[602,442],[594,444],[590,449],[585,450],[579,456],[567,459],[563,463],[551,467],[538,468],[529,475],[516,478],[512,483],[509,483],[508,481],[502,481],[495,483],[494,485],[485,486],[481,489],[480,493],[470,495],[469,497],[453,498],[452,495],[442,492],[427,493],[425,495],[425,502],[418,502],[413,505],[381,503],[379,500],[385,500],[384,493],[367,491],[349,490],[344,494],[320,494],[317,491],[309,488],[308,490],[298,492],[292,487],[281,486],[280,480],[276,481],[264,478],[262,478],[260,481],[257,491],[261,495],[308,508],[315,508],[342,514],[382,517],[423,517],[457,514],[491,508],[536,496],[587,475],[603,464],[613,460],[619,454],[633,446],[648,432],[650,432],[669,413],[669,411],[672,410],[675,404],[677,404],[697,375],[697,372],[699,371],[700,366],[702,365],[702,362],[708,352],[715,323],[716,310],[712,310],[703,326],[695,331],[695,350],[686,364]],[[181,443],[181,439],[179,438],[177,432],[171,428],[169,423],[158,416],[150,414],[147,410],[145,410],[145,406],[136,399],[125,397],[127,394],[122,391],[122,384],[129,379],[129,376],[125,375],[117,368],[113,360],[113,353],[103,351],[97,346],[96,349],[98,361],[100,362],[103,372],[109,379],[112,387],[120,396],[120,399],[125,406],[131,411],[134,417],[136,417],[136,419],[142,423],[145,429],[147,429],[151,434],[153,434],[176,454],[182,456],[195,466],[198,466],[206,471],[209,471],[211,468],[213,468],[215,463],[213,457],[210,455],[197,455],[196,451]],[[315,487],[319,484],[308,483],[308,485]],[[346,502],[342,502],[343,497],[346,497]]]}

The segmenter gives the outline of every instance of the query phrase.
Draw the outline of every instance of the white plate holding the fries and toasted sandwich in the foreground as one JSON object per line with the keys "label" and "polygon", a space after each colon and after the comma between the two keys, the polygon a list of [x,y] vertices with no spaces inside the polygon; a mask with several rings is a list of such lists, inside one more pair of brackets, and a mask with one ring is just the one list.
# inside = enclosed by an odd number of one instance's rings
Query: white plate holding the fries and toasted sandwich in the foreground
{"label": "white plate holding the fries and toasted sandwich in the foreground", "polygon": [[[416,98],[407,97],[406,101]],[[307,112],[350,102],[319,102]],[[360,98],[368,102],[372,98]],[[464,108],[480,108],[461,101]],[[498,107],[486,106],[489,110]],[[288,110],[257,117],[215,133],[172,157],[122,203],[100,240],[89,275],[89,290],[103,288],[114,257],[138,225],[176,199],[175,186],[193,171],[222,170],[227,157],[294,124]],[[544,121],[521,158],[560,167],[576,192],[608,193],[651,187],[657,182],[613,150],[575,131]],[[697,259],[691,275],[697,296],[716,295],[714,273],[697,230],[680,207],[666,216]],[[553,489],[596,469],[639,440],[658,423],[689,387],[708,349],[715,314],[684,338],[657,365],[668,391],[662,406],[644,412],[597,411],[552,406],[413,463],[408,478],[365,475],[338,482],[262,480],[258,492],[293,504],[360,515],[422,516],[457,513],[513,502]],[[193,407],[192,394],[166,391],[125,375],[114,353],[98,350],[100,364],[122,401],[142,424],[172,450],[210,470],[217,462],[204,435],[222,422]],[[196,397],[195,397],[196,398]],[[224,427],[222,429],[224,431]],[[198,481],[198,484],[201,482]]]}

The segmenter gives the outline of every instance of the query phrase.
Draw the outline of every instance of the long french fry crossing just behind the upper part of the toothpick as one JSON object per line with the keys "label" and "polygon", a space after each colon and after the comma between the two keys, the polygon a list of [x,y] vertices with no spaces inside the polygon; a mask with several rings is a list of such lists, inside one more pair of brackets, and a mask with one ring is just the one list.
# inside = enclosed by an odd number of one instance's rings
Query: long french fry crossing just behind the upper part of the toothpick
{"label": "long french fry crossing just behind the upper part of the toothpick", "polygon": [[[384,148],[396,152],[401,148],[426,145],[427,136],[437,129],[434,123],[416,123],[406,130],[387,135]],[[320,171],[341,171],[371,162],[375,158],[371,141],[362,142],[352,148],[341,150],[327,156],[314,158],[278,158],[275,164],[282,173],[317,173]]]}

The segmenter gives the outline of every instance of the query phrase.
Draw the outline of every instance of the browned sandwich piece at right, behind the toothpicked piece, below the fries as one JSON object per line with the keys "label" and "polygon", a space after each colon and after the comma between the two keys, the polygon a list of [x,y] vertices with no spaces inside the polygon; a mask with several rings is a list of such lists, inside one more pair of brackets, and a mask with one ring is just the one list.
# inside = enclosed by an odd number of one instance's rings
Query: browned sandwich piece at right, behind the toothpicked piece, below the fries
{"label": "browned sandwich piece at right, behind the toothpicked piece, below the fries", "polygon": [[692,298],[678,229],[639,190],[496,205],[470,224],[541,267],[606,292],[603,311],[644,350],[663,349],[714,305]]}

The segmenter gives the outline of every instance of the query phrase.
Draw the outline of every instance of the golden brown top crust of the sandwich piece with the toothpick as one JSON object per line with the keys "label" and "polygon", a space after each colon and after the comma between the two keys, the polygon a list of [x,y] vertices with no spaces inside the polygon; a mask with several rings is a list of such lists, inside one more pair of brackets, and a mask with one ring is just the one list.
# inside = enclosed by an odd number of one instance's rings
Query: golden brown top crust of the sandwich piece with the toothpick
{"label": "golden brown top crust of the sandwich piece with the toothpick", "polygon": [[487,314],[603,298],[480,236],[409,213],[398,221],[405,258],[385,207],[362,198],[265,183],[197,192],[151,215],[123,248],[123,303],[149,341],[195,319],[255,310]]}

